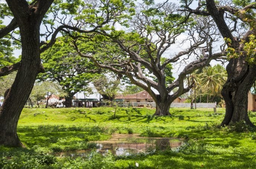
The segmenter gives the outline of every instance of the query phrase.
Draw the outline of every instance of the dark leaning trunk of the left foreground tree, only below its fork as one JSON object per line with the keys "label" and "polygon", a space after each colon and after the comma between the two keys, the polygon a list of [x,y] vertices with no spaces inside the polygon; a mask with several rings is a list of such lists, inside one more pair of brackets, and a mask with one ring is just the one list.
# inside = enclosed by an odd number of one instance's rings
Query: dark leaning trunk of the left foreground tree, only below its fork
{"label": "dark leaning trunk of the left foreground tree, only below its fork", "polygon": [[22,40],[22,61],[14,83],[10,88],[0,111],[0,145],[23,146],[17,136],[17,124],[23,106],[35,83],[37,74],[42,72],[39,51],[39,26],[27,25],[20,29]]}

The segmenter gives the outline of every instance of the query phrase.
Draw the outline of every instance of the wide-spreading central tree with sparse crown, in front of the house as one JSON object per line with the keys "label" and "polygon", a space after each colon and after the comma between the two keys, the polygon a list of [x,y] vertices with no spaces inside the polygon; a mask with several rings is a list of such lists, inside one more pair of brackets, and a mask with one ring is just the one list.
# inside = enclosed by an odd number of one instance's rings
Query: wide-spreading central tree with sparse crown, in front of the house
{"label": "wide-spreading central tree with sparse crown, in front of the house", "polygon": [[[208,37],[215,34],[215,30],[212,30],[210,26],[201,27],[200,24],[187,20],[176,9],[177,6],[173,3],[137,4],[135,15],[128,21],[127,31],[118,31],[114,27],[109,31],[97,31],[99,35],[106,37],[105,41],[112,41],[113,45],[118,45],[127,54],[125,57],[109,52],[107,45],[105,45],[108,51],[106,54],[102,52],[93,54],[85,49],[79,49],[76,42],[79,42],[80,37],[74,37],[74,46],[79,55],[92,59],[96,66],[125,75],[131,83],[146,90],[157,105],[155,115],[170,115],[170,104],[193,86],[193,84],[187,86],[184,83],[186,75],[203,68],[211,60],[223,55],[222,52],[212,55],[211,48],[208,48],[213,42],[213,39],[208,39]],[[211,22],[200,17],[194,19]],[[181,41],[180,45],[187,43],[188,48],[180,52],[175,50],[171,55],[168,54],[170,52],[168,49],[174,46],[181,35],[187,38]],[[99,38],[97,40],[99,41]],[[104,45],[104,40],[101,41],[102,45]],[[198,48],[203,52],[203,58],[197,55]],[[101,59],[103,56],[109,58],[109,62],[103,62]],[[191,62],[185,65],[178,79],[173,81],[169,71],[171,64],[183,61]],[[177,92],[170,94],[177,87]]]}

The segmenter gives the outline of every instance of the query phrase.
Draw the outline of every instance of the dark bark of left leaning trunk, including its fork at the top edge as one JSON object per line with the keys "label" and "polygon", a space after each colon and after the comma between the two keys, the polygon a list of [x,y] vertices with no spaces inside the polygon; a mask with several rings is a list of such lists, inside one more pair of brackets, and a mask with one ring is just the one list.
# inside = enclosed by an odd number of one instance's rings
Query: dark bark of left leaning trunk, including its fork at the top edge
{"label": "dark bark of left leaning trunk, including its fork at the top edge", "polygon": [[29,6],[27,1],[6,0],[20,29],[22,60],[0,110],[0,145],[23,146],[17,136],[17,123],[37,74],[43,72],[40,62],[39,27],[52,1],[39,0]]}

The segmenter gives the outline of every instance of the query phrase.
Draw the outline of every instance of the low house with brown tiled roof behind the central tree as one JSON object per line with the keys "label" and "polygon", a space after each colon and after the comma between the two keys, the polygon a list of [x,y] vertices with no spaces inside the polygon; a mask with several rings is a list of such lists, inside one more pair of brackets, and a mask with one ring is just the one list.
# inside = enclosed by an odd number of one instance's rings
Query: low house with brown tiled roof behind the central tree
{"label": "low house with brown tiled roof behind the central tree", "polygon": [[[136,94],[126,94],[126,95],[118,95],[115,97],[116,99],[122,99],[124,102],[154,102],[153,98],[143,90],[142,92],[136,93]],[[173,103],[182,103],[183,99],[178,97],[173,101]]]}

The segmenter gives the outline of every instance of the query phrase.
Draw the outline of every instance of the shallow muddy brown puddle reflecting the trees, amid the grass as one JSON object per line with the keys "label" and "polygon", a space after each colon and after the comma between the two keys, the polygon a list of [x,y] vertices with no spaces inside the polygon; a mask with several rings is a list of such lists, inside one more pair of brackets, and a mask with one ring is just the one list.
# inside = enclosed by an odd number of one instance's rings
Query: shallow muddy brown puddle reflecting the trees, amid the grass
{"label": "shallow muddy brown puddle reflecting the trees, amid the grass", "polygon": [[[111,139],[91,142],[96,146],[96,152],[105,155],[111,151],[116,156],[129,156],[139,153],[151,153],[156,150],[171,148],[173,151],[183,144],[175,138],[139,137],[139,134],[113,134]],[[56,154],[57,156],[88,157],[91,151],[72,151]]]}

